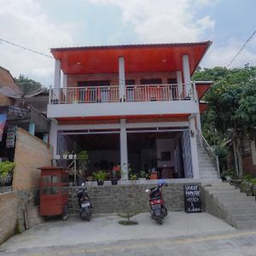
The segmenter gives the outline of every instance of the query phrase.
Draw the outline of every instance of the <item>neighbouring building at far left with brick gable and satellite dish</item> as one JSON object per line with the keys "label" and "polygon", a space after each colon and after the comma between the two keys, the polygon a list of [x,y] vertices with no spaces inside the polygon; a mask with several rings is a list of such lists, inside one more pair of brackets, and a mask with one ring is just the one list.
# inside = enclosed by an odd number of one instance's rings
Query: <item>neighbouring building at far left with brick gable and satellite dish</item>
{"label": "neighbouring building at far left with brick gable and satellite dish", "polygon": [[[46,97],[48,96],[47,91]],[[15,157],[15,131],[21,127],[30,131],[32,135],[44,139],[48,142],[49,119],[46,114],[46,97],[33,96],[22,98],[20,87],[15,84],[15,79],[11,73],[0,67],[0,116],[3,120],[1,124],[0,136],[0,160],[13,160]],[[28,104],[29,103],[29,104]],[[37,107],[42,109],[42,113]]]}

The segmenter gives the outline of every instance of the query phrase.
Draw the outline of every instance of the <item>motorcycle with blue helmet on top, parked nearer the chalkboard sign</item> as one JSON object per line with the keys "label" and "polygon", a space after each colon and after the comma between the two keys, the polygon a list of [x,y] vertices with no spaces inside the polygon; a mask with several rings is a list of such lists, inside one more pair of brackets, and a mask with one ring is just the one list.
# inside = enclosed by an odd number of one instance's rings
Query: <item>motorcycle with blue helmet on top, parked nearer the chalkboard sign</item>
{"label": "motorcycle with blue helmet on top, parked nearer the chalkboard sign", "polygon": [[167,215],[167,209],[165,207],[165,202],[162,196],[162,188],[164,181],[160,180],[157,186],[146,189],[149,192],[149,205],[151,218],[157,221],[158,224],[163,224],[163,218]]}

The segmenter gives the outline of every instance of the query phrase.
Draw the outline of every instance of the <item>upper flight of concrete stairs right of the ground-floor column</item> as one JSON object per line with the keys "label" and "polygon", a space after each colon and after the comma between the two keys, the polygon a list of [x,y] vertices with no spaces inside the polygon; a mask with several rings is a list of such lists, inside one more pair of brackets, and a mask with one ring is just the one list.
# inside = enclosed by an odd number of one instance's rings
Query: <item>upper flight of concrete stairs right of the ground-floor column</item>
{"label": "upper flight of concrete stairs right of the ground-floor column", "polygon": [[217,180],[218,173],[215,166],[212,163],[212,159],[205,148],[201,144],[197,143],[198,152],[198,164],[199,164],[199,177],[207,180]]}

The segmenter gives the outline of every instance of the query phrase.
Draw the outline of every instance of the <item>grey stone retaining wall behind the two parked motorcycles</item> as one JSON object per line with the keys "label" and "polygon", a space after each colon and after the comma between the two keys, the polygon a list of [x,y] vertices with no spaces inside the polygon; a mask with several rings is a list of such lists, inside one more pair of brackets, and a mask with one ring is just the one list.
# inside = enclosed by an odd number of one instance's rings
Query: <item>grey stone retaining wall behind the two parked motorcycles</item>
{"label": "grey stone retaining wall behind the two parked motorcycles", "polygon": [[[184,210],[184,183],[170,183],[163,188],[163,196],[168,211]],[[87,187],[90,201],[96,213],[148,212],[150,184],[109,185]],[[69,187],[70,212],[78,212],[77,191],[79,187]]]}

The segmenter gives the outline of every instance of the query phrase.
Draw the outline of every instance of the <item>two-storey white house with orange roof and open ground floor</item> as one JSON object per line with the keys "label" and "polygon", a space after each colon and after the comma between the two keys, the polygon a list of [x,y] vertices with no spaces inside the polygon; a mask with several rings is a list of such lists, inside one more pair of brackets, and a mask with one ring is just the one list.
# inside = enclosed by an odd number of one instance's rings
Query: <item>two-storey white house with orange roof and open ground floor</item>
{"label": "two-storey white house with orange roof and open ground floor", "polygon": [[87,150],[90,173],[120,164],[123,178],[154,170],[164,178],[217,178],[214,167],[200,166],[205,152],[197,142],[205,109],[199,102],[212,82],[191,82],[210,45],[51,49],[55,86],[47,116],[54,157]]}

